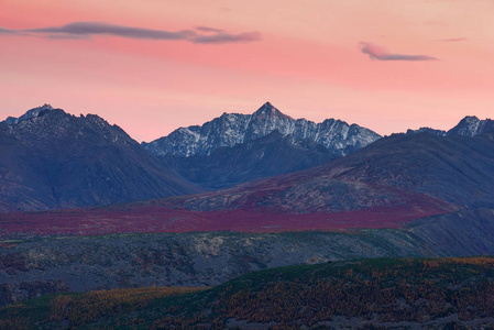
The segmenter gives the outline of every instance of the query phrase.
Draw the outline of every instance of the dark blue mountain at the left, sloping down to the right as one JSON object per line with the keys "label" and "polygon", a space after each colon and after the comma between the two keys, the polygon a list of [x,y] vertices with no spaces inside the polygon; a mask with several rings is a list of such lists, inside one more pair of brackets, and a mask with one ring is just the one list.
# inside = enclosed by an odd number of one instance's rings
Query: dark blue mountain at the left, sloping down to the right
{"label": "dark blue mountain at the left, sloping down to the right", "polygon": [[50,106],[0,123],[0,211],[100,206],[199,191],[117,125]]}

